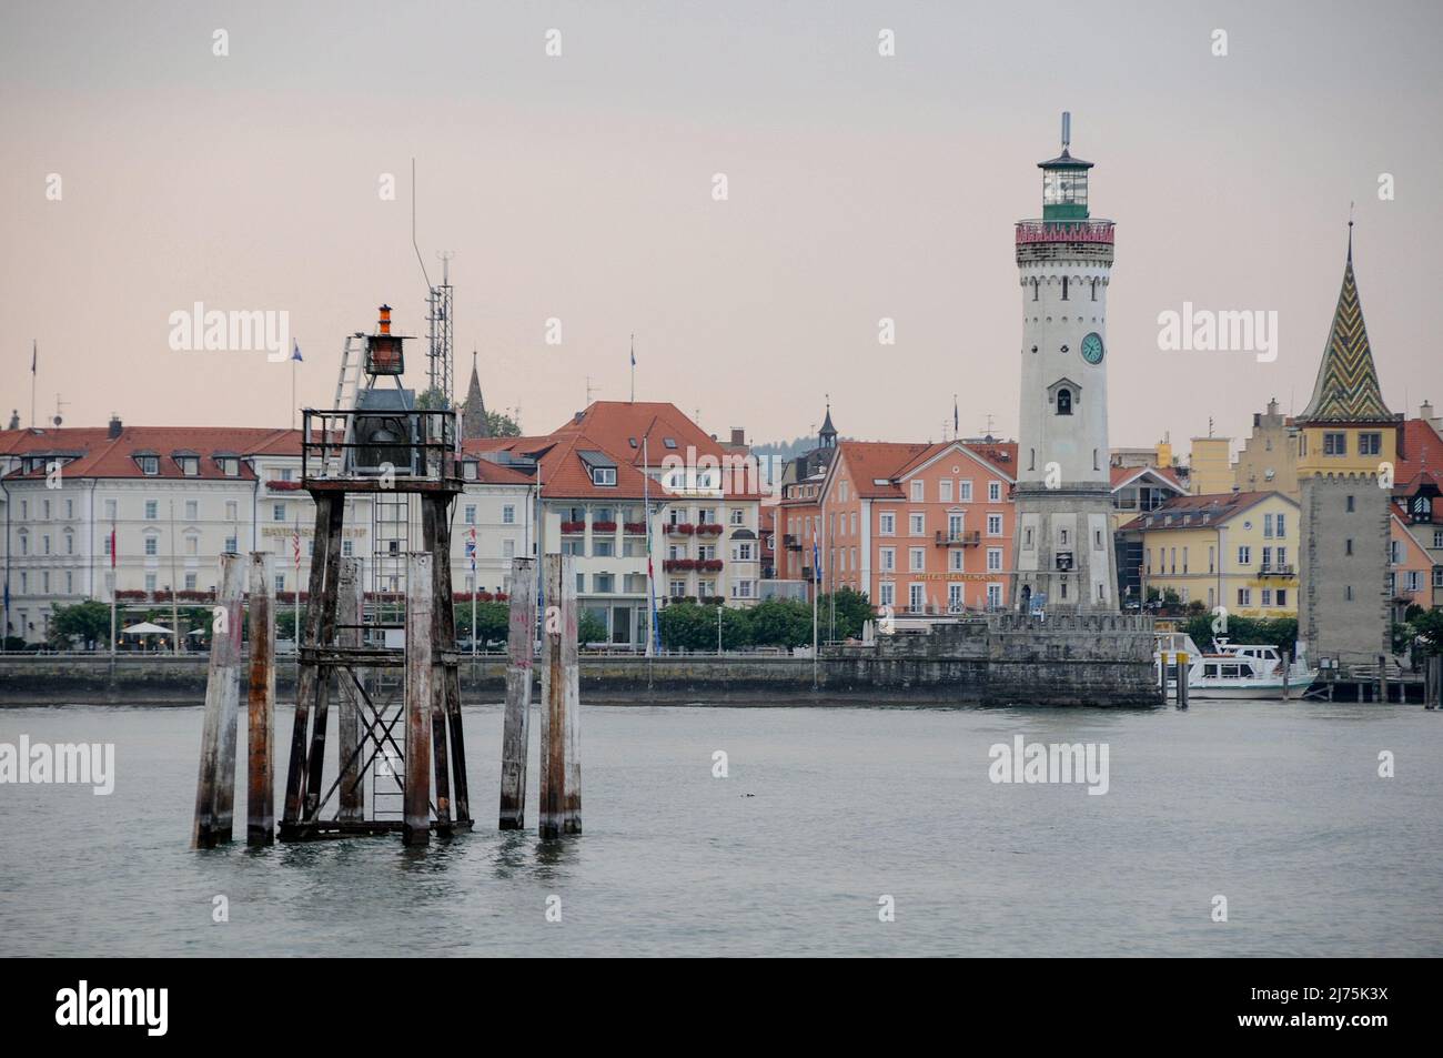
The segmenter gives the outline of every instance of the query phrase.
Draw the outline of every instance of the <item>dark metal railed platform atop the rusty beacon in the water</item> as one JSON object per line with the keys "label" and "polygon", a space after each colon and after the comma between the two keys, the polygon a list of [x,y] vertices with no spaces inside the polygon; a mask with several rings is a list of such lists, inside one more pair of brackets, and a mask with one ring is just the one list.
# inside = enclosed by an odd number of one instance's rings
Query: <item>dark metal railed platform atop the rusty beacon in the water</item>
{"label": "dark metal railed platform atop the rusty beacon in the water", "polygon": [[315,410],[302,413],[303,488],[459,489],[456,413],[449,410]]}

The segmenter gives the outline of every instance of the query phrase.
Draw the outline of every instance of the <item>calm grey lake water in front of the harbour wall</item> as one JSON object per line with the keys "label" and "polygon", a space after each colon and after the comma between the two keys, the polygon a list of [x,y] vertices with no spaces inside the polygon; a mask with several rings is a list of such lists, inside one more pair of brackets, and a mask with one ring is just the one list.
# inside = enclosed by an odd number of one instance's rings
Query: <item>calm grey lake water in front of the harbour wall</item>
{"label": "calm grey lake water in front of the harbour wall", "polygon": [[[0,742],[114,742],[117,769],[110,797],[0,785],[0,954],[1443,954],[1443,714],[1418,706],[587,706],[586,833],[553,843],[495,830],[501,710],[465,722],[469,836],[196,853],[198,707],[0,709]],[[990,782],[1019,733],[1105,742],[1108,792]]]}

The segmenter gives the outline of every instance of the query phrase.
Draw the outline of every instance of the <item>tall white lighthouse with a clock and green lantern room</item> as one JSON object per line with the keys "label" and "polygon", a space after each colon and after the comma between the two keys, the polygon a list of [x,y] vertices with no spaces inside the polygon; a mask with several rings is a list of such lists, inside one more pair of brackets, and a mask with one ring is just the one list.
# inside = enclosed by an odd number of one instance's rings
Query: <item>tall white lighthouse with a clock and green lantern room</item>
{"label": "tall white lighthouse with a clock and green lantern room", "polygon": [[1088,215],[1091,162],[1042,169],[1042,218],[1017,221],[1022,414],[1013,606],[1117,612],[1107,447],[1107,284],[1113,222]]}

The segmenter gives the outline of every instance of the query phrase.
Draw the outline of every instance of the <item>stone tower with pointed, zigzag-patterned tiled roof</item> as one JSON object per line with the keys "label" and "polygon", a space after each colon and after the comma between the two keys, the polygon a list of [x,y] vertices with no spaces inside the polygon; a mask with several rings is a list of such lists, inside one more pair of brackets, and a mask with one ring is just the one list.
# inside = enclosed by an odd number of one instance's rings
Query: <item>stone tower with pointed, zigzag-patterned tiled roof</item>
{"label": "stone tower with pointed, zigzag-patterned tiled roof", "polygon": [[1388,410],[1348,258],[1307,407],[1297,416],[1299,639],[1309,658],[1375,664],[1390,651],[1390,494],[1401,416]]}

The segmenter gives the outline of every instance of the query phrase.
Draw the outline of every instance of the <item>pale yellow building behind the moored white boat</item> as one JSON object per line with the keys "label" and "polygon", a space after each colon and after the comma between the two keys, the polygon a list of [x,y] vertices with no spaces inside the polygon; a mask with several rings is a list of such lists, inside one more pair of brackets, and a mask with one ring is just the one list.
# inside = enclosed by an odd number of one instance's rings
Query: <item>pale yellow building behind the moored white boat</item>
{"label": "pale yellow building behind the moored white boat", "polygon": [[1225,606],[1248,618],[1297,613],[1299,507],[1281,492],[1182,495],[1123,525],[1141,551],[1140,595]]}

